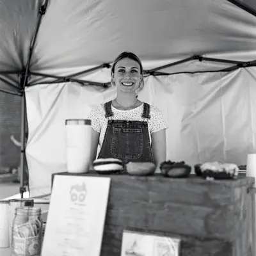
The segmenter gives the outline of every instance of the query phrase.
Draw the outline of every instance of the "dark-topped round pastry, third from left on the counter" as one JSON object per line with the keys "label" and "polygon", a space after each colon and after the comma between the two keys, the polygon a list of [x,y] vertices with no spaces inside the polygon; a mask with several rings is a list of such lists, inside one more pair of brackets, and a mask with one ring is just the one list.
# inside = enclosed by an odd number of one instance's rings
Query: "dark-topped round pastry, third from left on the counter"
{"label": "dark-topped round pastry, third from left on the counter", "polygon": [[189,176],[191,166],[186,164],[184,161],[173,162],[169,160],[160,164],[160,170],[165,177],[185,178]]}

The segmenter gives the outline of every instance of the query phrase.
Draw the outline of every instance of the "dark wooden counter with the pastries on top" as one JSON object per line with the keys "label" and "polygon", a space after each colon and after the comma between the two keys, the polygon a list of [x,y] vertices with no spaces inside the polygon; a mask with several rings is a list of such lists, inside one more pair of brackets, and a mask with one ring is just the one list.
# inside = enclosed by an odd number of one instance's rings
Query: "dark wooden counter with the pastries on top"
{"label": "dark wooden counter with the pastries on top", "polygon": [[255,255],[253,178],[107,177],[111,189],[101,256],[120,256],[124,228],[180,236],[182,256]]}

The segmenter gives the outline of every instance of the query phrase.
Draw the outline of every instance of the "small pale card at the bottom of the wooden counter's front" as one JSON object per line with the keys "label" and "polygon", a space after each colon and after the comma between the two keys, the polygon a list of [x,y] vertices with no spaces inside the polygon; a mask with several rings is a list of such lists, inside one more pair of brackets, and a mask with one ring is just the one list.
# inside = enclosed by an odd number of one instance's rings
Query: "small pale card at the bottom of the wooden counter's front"
{"label": "small pale card at the bottom of the wooden counter's front", "polygon": [[121,256],[179,256],[180,238],[124,230]]}

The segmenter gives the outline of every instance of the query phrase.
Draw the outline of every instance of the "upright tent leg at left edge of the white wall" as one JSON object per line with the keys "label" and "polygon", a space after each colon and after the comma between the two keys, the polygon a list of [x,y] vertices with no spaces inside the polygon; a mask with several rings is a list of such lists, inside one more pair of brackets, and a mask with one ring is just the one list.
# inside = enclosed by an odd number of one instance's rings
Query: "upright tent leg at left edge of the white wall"
{"label": "upright tent leg at left edge of the white wall", "polygon": [[25,92],[21,98],[21,132],[20,132],[20,198],[23,198],[23,193],[26,192],[24,187],[24,171],[25,171],[25,129],[26,129],[26,98]]}

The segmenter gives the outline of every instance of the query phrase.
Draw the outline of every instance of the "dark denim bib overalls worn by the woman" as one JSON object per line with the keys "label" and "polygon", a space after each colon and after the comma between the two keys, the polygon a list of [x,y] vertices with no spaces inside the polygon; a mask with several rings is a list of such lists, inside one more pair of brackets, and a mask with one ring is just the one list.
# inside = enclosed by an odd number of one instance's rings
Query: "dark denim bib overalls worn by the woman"
{"label": "dark denim bib overalls worn by the woman", "polygon": [[129,162],[152,162],[154,158],[148,134],[150,106],[143,103],[144,121],[115,120],[111,102],[104,104],[108,125],[98,158],[118,158],[123,161],[124,170]]}

